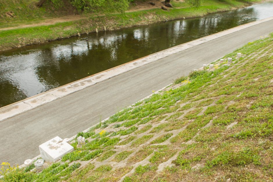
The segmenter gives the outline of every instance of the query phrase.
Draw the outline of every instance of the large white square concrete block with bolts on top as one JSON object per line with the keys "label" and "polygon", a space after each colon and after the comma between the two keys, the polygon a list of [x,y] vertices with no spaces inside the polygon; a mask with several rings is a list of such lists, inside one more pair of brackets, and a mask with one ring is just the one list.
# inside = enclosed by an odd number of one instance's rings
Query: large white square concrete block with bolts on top
{"label": "large white square concrete block with bolts on top", "polygon": [[56,160],[64,156],[64,154],[73,151],[73,149],[74,148],[70,144],[64,142],[58,136],[39,145],[41,157],[46,162],[55,162]]}

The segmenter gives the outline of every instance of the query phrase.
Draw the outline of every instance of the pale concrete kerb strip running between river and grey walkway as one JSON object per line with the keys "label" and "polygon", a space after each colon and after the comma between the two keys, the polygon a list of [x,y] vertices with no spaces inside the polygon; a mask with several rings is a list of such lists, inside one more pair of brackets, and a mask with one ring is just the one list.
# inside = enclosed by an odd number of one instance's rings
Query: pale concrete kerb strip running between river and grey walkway
{"label": "pale concrete kerb strip running between river and grey walkway", "polygon": [[219,33],[208,35],[206,37],[199,38],[199,39],[193,40],[191,42],[180,44],[175,47],[171,47],[169,49],[151,54],[149,56],[139,58],[137,60],[133,60],[133,61],[125,63],[123,65],[120,65],[120,66],[105,70],[103,72],[88,76],[86,78],[82,78],[78,81],[75,81],[75,82],[69,83],[67,85],[63,85],[61,87],[49,90],[47,92],[35,95],[33,97],[24,99],[22,101],[18,101],[14,104],[4,106],[4,107],[0,108],[0,121],[3,121],[4,119],[8,119],[10,117],[18,115],[20,113],[24,113],[28,110],[36,108],[37,106],[41,106],[41,105],[46,104],[50,101],[53,101],[53,100],[58,99],[60,97],[64,97],[64,96],[69,95],[73,92],[76,92],[78,90],[82,90],[82,89],[87,88],[91,85],[94,85],[94,84],[104,81],[106,79],[112,78],[113,76],[117,76],[121,73],[125,73],[127,71],[130,71],[130,70],[140,67],[142,65],[146,65],[146,64],[151,63],[153,61],[156,61],[156,60],[159,60],[159,59],[164,58],[166,56],[169,56],[171,54],[189,49],[191,47],[208,42],[210,40],[214,40],[214,39],[222,37],[224,35],[228,35],[230,33],[234,33],[239,30],[242,30],[242,29],[257,25],[257,24],[261,24],[263,22],[270,21],[272,19],[273,19],[273,17],[262,19],[262,20],[259,20],[256,22],[251,22],[248,24],[240,25],[240,26],[237,26],[237,27],[234,27],[234,28],[231,28],[231,29],[219,32]]}

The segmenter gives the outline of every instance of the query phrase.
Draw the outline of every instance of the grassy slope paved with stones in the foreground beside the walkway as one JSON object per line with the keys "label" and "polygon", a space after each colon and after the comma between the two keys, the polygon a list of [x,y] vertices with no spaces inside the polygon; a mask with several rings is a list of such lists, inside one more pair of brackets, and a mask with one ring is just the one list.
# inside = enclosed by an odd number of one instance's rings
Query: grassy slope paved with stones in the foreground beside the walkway
{"label": "grassy slope paved with stones in the foreground beside the walkway", "polygon": [[[237,52],[243,55],[239,59]],[[62,168],[21,176],[30,181],[61,176],[65,181],[272,181],[272,52],[273,34],[250,42],[224,56],[224,63],[215,61],[212,71],[192,72],[188,80],[78,133],[87,143],[73,143]],[[231,65],[225,65],[228,57],[234,58]],[[72,174],[72,169],[58,173],[74,161],[89,163]]]}

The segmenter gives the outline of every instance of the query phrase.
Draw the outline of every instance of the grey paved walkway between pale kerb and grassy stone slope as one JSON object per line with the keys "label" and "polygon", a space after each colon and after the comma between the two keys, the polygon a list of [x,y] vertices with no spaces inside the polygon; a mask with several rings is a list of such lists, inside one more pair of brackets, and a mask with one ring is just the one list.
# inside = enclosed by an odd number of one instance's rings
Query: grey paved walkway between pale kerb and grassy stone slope
{"label": "grey paved walkway between pale kerb and grassy stone slope", "polygon": [[38,145],[70,138],[192,69],[273,31],[273,20],[210,40],[0,121],[0,162],[22,164]]}

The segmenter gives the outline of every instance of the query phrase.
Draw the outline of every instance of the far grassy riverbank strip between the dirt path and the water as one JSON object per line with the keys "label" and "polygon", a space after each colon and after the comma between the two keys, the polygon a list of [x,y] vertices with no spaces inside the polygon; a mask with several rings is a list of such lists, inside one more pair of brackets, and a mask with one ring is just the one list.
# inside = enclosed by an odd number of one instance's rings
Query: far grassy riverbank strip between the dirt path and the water
{"label": "far grassy riverbank strip between the dirt path and the water", "polygon": [[[261,1],[252,1],[261,2]],[[148,4],[148,3],[147,3]],[[69,22],[61,22],[53,25],[35,26],[27,28],[16,28],[0,31],[0,51],[22,47],[31,44],[41,44],[52,40],[69,38],[83,33],[117,30],[120,28],[151,24],[181,18],[193,18],[228,11],[235,8],[249,6],[247,1],[216,1],[209,0],[200,6],[200,8],[191,8],[184,2],[173,1],[173,8],[167,11],[162,9],[133,10],[124,14],[114,15],[92,15],[88,14],[83,19]]]}

